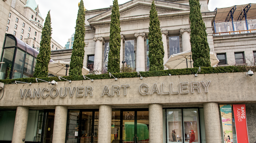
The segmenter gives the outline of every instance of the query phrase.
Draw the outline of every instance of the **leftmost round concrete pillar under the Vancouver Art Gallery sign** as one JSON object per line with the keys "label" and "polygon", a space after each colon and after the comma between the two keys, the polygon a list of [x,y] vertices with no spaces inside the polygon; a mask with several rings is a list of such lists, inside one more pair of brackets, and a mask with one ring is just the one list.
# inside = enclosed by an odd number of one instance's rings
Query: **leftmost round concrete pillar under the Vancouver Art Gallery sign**
{"label": "leftmost round concrete pillar under the Vancouver Art Gallery sign", "polygon": [[12,143],[24,143],[22,139],[26,137],[26,129],[28,124],[29,107],[18,106],[16,110]]}

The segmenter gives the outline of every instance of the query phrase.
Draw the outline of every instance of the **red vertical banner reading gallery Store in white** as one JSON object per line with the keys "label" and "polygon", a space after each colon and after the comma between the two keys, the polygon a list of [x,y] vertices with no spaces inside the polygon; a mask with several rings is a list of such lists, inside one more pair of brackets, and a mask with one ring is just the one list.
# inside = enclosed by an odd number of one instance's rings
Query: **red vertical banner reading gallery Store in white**
{"label": "red vertical banner reading gallery Store in white", "polygon": [[233,105],[237,143],[249,143],[245,104]]}

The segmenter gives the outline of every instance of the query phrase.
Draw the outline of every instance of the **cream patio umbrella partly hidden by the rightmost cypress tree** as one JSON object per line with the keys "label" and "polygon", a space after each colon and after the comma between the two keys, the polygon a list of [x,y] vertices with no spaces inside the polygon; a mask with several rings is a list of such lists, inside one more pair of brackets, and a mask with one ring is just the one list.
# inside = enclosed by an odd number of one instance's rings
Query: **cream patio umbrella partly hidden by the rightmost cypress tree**
{"label": "cream patio umbrella partly hidden by the rightmost cypress tree", "polygon": [[[214,52],[210,52],[210,62],[211,66],[219,63],[219,60]],[[164,66],[169,69],[193,68],[191,50],[171,55],[169,59],[164,63]]]}

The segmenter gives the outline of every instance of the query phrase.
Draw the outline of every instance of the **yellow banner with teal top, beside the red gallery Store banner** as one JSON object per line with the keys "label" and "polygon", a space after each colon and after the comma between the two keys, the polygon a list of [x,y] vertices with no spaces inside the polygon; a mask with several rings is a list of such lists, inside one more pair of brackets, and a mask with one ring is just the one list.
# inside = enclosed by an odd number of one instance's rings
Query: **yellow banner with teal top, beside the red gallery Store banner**
{"label": "yellow banner with teal top, beside the red gallery Store banner", "polygon": [[233,141],[232,105],[219,105],[219,107],[221,109],[224,142],[231,143],[231,140]]}

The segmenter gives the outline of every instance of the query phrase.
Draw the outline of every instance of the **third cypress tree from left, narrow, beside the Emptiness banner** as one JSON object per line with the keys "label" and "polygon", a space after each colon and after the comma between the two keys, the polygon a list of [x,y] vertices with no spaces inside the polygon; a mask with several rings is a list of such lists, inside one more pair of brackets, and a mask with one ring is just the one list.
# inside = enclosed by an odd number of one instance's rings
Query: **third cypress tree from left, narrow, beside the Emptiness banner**
{"label": "third cypress tree from left, narrow, beside the Emptiness banner", "polygon": [[110,23],[108,72],[120,72],[120,13],[117,0],[113,1]]}

